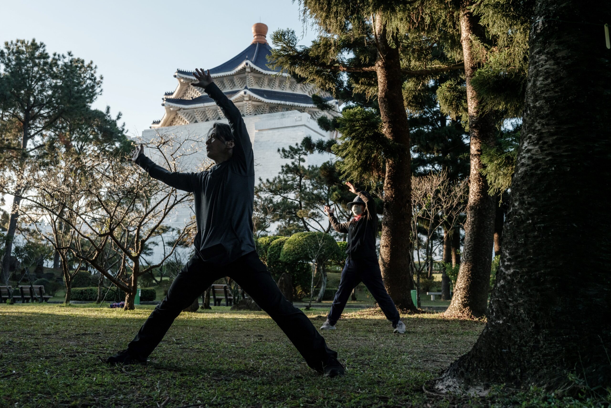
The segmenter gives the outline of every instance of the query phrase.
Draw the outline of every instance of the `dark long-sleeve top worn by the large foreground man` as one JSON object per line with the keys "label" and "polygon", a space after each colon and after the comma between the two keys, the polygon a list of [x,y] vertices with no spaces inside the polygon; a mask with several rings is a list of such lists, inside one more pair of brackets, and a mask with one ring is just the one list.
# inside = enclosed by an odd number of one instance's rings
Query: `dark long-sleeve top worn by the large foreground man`
{"label": "dark long-sleeve top worn by the large foreground man", "polygon": [[136,159],[151,177],[177,190],[193,193],[197,234],[196,253],[203,261],[228,264],[255,250],[252,207],[255,166],[251,138],[240,110],[211,83],[204,91],[229,121],[235,139],[233,155],[202,172],[172,172],[141,154]]}

